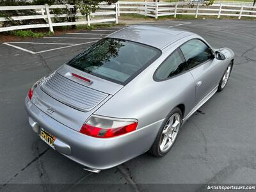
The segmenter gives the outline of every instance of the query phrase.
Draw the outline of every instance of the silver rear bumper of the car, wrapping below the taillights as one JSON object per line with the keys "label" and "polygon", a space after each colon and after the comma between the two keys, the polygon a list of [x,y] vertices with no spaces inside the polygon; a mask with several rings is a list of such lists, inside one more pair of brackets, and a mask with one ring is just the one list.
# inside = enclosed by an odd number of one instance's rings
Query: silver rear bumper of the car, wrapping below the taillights
{"label": "silver rear bumper of the car, wrapping below the taillights", "polygon": [[40,127],[56,136],[54,148],[83,166],[97,170],[111,168],[146,152],[154,142],[163,120],[116,138],[93,138],[57,122],[25,100],[29,124],[39,134]]}

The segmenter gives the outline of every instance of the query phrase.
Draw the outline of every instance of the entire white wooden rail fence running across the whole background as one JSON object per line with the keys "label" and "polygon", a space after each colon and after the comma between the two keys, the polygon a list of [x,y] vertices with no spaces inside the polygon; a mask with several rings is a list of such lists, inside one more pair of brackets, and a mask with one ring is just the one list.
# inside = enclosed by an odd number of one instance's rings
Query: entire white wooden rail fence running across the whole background
{"label": "entire white wooden rail fence running across the whole background", "polygon": [[[137,13],[148,17],[162,17],[166,15],[212,15],[220,18],[221,16],[232,16],[241,19],[241,17],[256,18],[256,6],[238,5],[238,4],[212,4],[205,6],[203,3],[162,3],[162,2],[147,2],[147,1],[118,1],[115,4],[100,4],[99,10],[91,13],[89,16],[82,15],[79,10],[76,14],[54,14],[54,9],[72,9],[73,5],[31,5],[31,6],[0,6],[0,12],[6,10],[35,10],[36,15],[13,16],[10,18],[0,17],[1,22],[8,20],[45,20],[42,24],[27,24],[20,26],[8,26],[0,28],[2,31],[12,31],[16,29],[31,29],[31,28],[49,28],[53,31],[55,26],[70,26],[99,22],[116,22],[118,23],[118,16],[122,13]],[[99,18],[99,17],[102,18]],[[74,22],[55,22],[56,18],[76,17],[79,18]]]}

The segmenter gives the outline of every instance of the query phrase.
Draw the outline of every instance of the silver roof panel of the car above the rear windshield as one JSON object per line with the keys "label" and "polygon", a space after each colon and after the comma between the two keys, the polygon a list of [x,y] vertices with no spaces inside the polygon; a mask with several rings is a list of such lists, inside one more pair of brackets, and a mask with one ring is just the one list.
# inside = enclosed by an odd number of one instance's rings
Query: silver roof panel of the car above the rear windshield
{"label": "silver roof panel of the car above the rear windshield", "polygon": [[170,45],[172,42],[180,40],[181,38],[189,35],[195,35],[195,33],[181,29],[140,25],[120,29],[108,37],[130,40],[133,42],[150,45],[158,49],[164,49],[166,45]]}

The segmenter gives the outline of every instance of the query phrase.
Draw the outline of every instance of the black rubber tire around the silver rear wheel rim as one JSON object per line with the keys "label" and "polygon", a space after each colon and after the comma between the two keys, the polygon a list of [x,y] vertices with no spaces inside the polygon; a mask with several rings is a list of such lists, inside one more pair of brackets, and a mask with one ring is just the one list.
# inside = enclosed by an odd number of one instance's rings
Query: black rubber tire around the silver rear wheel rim
{"label": "black rubber tire around the silver rear wheel rim", "polygon": [[[162,135],[162,132],[163,132],[163,129],[166,125],[166,123],[168,122],[169,118],[175,114],[175,113],[179,113],[180,115],[180,127],[182,126],[182,112],[179,108],[174,108],[167,116],[166,118],[164,119],[164,122],[163,124],[161,125],[160,129],[159,129],[159,132],[157,134],[157,137],[156,137],[156,140],[154,141],[152,147],[150,148],[150,153],[156,157],[163,157],[164,155],[166,155],[170,150],[171,148],[173,147],[174,143],[175,143],[175,140],[173,141],[173,144],[172,146],[166,151],[166,152],[162,152],[160,150],[160,142],[161,142],[161,135]],[[179,127],[179,128],[180,128]],[[179,133],[179,132],[178,132]]]}

